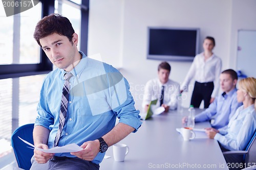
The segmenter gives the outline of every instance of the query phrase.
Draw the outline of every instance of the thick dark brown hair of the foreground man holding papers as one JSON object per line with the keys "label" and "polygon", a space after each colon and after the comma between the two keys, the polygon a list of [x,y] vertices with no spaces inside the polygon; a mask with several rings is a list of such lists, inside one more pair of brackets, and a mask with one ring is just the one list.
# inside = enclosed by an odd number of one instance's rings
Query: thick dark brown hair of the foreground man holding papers
{"label": "thick dark brown hair of the foreground man holding papers", "polygon": [[75,31],[68,18],[59,14],[51,14],[49,16],[45,16],[37,22],[34,38],[41,46],[39,40],[53,33],[68,37],[69,41],[73,44],[72,36]]}

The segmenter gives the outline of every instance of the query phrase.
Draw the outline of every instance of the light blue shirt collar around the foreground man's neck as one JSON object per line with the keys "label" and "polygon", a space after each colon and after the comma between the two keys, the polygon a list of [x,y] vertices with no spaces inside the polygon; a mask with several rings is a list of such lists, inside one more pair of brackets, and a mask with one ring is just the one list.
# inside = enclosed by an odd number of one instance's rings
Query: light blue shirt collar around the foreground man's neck
{"label": "light blue shirt collar around the foreground man's neck", "polygon": [[[82,70],[85,68],[86,63],[87,63],[87,56],[86,56],[83,52],[81,52],[81,51],[79,51],[79,53],[82,55],[82,59],[81,59],[81,61],[75,66],[75,68],[73,68],[73,69],[70,71],[71,74],[72,74],[73,76],[77,77],[77,78],[80,77],[80,75],[81,75],[81,73],[82,73]],[[67,71],[65,71],[64,69],[61,69],[61,74],[63,75],[63,77],[64,77],[64,75],[65,75],[66,72],[67,72]]]}

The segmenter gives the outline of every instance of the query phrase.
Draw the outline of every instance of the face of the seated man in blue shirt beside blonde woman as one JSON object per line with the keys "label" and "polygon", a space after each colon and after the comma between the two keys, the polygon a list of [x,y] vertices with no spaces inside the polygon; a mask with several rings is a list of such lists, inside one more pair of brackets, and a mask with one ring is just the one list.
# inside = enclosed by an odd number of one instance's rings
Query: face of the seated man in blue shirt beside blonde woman
{"label": "face of the seated man in blue shirt beside blonde woman", "polygon": [[229,74],[221,74],[220,75],[220,85],[224,92],[229,92],[234,87],[236,87],[237,80],[232,80],[231,76]]}

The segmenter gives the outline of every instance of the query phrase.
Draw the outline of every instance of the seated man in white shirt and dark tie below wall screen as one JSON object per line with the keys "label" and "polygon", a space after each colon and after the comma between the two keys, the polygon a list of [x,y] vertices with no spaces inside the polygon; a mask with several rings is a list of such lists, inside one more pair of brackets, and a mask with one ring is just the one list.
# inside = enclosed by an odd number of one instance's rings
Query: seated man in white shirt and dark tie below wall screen
{"label": "seated man in white shirt and dark tie below wall screen", "polygon": [[177,99],[180,92],[179,83],[170,80],[170,65],[162,62],[158,66],[158,78],[152,79],[146,83],[142,107],[145,111],[151,101],[158,99],[157,104],[162,106],[165,112],[169,109],[177,108]]}

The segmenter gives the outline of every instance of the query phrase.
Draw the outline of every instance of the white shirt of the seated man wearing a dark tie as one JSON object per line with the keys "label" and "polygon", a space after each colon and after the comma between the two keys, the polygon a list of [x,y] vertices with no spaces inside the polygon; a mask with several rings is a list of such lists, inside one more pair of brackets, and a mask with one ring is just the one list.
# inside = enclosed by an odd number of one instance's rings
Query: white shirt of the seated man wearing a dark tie
{"label": "white shirt of the seated man wearing a dark tie", "polygon": [[169,109],[177,108],[177,99],[180,92],[179,83],[168,80],[165,84],[162,84],[158,78],[152,79],[146,83],[142,107],[150,104],[151,101],[158,99],[157,106],[160,106],[161,99],[161,87],[164,86],[164,99],[163,104],[169,106]]}

